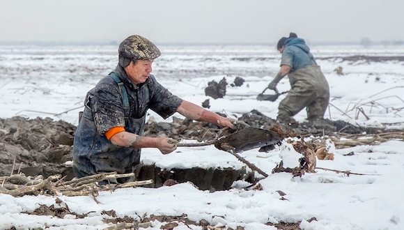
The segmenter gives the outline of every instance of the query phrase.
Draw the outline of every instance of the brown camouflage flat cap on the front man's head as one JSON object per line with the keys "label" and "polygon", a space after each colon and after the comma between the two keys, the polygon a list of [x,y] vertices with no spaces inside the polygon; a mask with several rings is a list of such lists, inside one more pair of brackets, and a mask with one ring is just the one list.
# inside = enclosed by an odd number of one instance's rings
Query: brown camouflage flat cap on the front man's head
{"label": "brown camouflage flat cap on the front man's head", "polygon": [[118,47],[119,64],[123,67],[129,65],[130,61],[153,60],[160,56],[160,50],[147,38],[139,35],[127,37]]}

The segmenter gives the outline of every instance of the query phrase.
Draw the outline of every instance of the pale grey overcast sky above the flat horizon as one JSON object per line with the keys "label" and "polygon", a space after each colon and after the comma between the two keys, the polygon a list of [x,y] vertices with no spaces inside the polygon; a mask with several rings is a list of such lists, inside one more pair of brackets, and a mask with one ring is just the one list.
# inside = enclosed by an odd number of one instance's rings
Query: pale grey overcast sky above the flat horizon
{"label": "pale grey overcast sky above the flat horizon", "polygon": [[403,0],[0,0],[0,42],[277,43],[404,40]]}

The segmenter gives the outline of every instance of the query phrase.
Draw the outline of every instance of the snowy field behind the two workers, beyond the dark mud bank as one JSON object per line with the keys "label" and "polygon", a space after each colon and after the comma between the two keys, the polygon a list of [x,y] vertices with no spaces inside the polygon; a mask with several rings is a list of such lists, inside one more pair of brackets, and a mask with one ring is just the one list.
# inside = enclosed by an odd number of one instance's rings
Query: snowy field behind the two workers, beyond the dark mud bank
{"label": "snowy field behind the two workers, beyond the dark mud bank", "polygon": [[[116,66],[116,47],[0,47],[0,117],[49,116],[77,124],[86,91]],[[228,86],[226,97],[210,100],[216,112],[241,114],[258,109],[270,117],[277,102],[259,102],[261,93],[279,70],[280,54],[268,46],[162,47],[153,74],[173,93],[201,105],[208,99],[208,82],[226,77],[246,80],[241,87]],[[313,54],[331,87],[327,118],[375,124],[403,121],[403,61],[369,59],[343,61],[346,56],[403,56],[404,48],[313,47]],[[344,75],[334,71],[341,66]],[[279,91],[288,90],[285,77]],[[267,93],[271,93],[268,92]],[[278,101],[280,101],[279,98]],[[240,106],[241,105],[241,106]],[[359,113],[364,109],[366,116]],[[303,121],[306,114],[296,116]]]}

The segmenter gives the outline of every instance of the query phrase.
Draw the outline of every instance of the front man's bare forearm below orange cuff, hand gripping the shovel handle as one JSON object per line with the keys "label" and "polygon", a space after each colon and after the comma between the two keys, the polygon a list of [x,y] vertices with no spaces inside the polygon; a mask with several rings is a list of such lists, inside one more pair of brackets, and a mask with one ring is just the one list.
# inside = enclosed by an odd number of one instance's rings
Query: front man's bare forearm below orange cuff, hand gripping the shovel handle
{"label": "front man's bare forearm below orange cuff, hand gripping the shovel handle", "polygon": [[116,133],[110,141],[112,144],[129,148],[158,148],[163,154],[177,149],[176,141],[169,137],[142,137],[126,131]]}

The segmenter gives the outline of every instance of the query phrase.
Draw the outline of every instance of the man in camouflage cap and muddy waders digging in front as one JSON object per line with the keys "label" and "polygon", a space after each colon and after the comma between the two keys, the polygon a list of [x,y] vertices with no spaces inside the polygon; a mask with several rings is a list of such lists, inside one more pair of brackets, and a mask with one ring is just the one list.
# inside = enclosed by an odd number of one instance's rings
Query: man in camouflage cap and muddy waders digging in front
{"label": "man in camouflage cap and muddy waders digging in front", "polygon": [[158,148],[162,154],[175,151],[176,141],[169,137],[142,136],[148,109],[162,118],[178,112],[196,121],[233,128],[232,119],[178,98],[150,75],[153,60],[160,54],[150,40],[129,36],[119,45],[115,70],[88,91],[73,146],[77,178],[113,171],[132,173],[139,166],[141,148]]}

